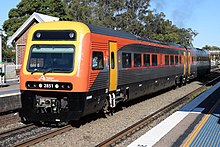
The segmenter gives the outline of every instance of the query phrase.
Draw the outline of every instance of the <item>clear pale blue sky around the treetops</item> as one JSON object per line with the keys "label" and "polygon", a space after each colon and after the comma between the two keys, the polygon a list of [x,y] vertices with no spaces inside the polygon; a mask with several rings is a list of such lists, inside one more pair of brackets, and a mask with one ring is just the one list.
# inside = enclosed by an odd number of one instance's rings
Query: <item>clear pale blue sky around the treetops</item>
{"label": "clear pale blue sky around the treetops", "polygon": [[[8,12],[21,0],[0,0],[0,28]],[[163,12],[166,19],[181,28],[198,32],[193,45],[220,47],[220,0],[151,0],[151,9]]]}

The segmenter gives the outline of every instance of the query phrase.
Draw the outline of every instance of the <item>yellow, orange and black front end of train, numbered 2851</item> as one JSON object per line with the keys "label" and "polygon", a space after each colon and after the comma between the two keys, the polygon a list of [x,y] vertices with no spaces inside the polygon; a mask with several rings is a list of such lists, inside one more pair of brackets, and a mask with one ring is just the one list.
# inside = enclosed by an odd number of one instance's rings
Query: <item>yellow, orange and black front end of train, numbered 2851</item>
{"label": "yellow, orange and black front end of train, numbered 2851", "polygon": [[83,115],[89,33],[79,22],[40,23],[30,29],[20,72],[23,121],[59,123]]}

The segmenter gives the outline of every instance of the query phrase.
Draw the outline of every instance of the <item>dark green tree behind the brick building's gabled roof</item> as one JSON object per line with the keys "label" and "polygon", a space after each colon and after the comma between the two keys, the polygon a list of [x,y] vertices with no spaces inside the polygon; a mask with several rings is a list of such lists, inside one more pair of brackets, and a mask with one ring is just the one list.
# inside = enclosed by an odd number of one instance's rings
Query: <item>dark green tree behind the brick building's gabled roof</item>
{"label": "dark green tree behind the brick building's gabled roof", "polygon": [[3,24],[7,35],[11,36],[34,12],[68,19],[61,0],[21,0],[17,8],[9,11],[9,19]]}

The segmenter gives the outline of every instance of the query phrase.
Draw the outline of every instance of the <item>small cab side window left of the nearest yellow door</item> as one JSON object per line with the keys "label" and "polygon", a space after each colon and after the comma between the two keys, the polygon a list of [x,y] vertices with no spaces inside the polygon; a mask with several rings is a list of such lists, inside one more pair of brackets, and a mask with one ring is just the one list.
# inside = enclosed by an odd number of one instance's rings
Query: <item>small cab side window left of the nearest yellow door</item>
{"label": "small cab side window left of the nearest yellow door", "polygon": [[104,69],[103,52],[92,53],[92,69],[93,70]]}

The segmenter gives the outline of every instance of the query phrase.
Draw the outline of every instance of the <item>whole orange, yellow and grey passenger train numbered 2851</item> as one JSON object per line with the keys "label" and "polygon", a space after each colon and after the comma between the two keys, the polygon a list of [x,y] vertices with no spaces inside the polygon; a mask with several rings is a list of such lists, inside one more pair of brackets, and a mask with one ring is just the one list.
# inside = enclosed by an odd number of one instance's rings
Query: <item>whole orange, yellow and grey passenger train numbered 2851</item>
{"label": "whole orange, yellow and grey passenger train numbered 2851", "polygon": [[81,22],[31,27],[20,70],[24,122],[68,123],[210,72],[206,50]]}

